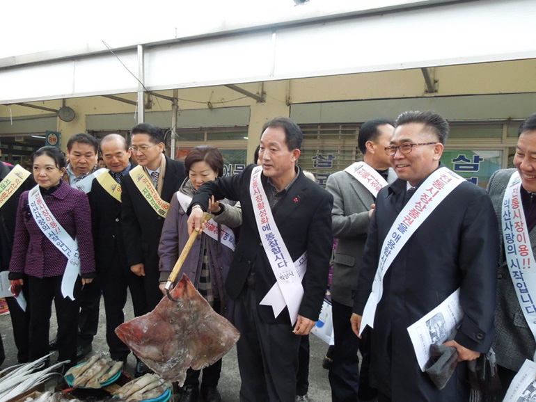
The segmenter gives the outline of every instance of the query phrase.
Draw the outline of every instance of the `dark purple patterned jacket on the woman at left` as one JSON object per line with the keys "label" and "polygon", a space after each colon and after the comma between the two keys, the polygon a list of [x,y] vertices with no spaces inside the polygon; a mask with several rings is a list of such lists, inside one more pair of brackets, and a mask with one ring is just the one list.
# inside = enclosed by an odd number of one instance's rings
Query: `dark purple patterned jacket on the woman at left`
{"label": "dark purple patterned jacket on the woman at left", "polygon": [[[37,278],[63,275],[67,257],[42,234],[31,215],[28,193],[22,193],[17,209],[13,254],[9,266],[10,279],[22,278],[23,272]],[[95,257],[88,196],[61,180],[61,186],[51,195],[44,195],[43,199],[63,229],[72,238],[77,236],[81,276],[93,278]]]}

